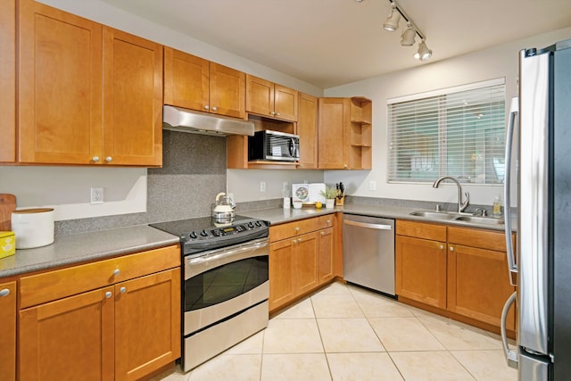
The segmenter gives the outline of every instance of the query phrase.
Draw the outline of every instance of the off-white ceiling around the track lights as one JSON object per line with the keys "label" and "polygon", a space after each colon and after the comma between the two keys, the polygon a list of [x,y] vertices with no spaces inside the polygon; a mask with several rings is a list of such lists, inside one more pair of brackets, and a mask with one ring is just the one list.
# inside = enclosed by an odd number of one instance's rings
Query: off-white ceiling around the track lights
{"label": "off-white ceiling around the track lights", "polygon": [[102,1],[320,88],[571,26],[569,0],[397,0],[433,50],[418,62],[389,0]]}

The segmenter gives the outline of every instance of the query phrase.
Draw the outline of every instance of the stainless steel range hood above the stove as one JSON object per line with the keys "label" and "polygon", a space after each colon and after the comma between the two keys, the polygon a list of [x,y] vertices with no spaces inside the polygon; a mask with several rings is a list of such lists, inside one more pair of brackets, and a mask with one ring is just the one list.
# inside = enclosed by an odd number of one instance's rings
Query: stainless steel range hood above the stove
{"label": "stainless steel range hood above the stove", "polygon": [[227,135],[249,135],[253,137],[254,129],[253,122],[249,120],[194,112],[169,105],[162,106],[162,128],[217,137]]}

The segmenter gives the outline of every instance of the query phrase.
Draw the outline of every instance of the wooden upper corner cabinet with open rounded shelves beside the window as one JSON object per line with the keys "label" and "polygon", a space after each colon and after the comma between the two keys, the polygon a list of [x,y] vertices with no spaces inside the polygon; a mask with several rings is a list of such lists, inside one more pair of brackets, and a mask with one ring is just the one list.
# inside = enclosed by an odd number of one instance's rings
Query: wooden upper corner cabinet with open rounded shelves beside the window
{"label": "wooden upper corner cabinet with open rounded shelves beside the window", "polygon": [[319,98],[319,169],[372,168],[372,102]]}

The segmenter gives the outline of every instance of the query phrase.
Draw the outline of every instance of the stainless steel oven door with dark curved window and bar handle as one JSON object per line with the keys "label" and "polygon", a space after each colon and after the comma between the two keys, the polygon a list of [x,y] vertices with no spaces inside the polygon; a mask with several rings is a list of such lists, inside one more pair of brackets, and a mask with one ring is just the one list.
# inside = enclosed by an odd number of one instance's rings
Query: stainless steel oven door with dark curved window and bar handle
{"label": "stainless steel oven door with dark curved window and bar handle", "polygon": [[268,238],[185,258],[184,334],[269,298]]}

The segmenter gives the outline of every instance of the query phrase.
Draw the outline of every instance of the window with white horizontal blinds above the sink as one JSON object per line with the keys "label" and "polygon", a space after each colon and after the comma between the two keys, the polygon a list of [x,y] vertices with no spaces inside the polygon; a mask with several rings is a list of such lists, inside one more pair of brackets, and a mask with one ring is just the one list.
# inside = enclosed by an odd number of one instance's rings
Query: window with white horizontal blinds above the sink
{"label": "window with white horizontal blinds above the sink", "polygon": [[504,79],[390,99],[388,129],[389,182],[503,183]]}

